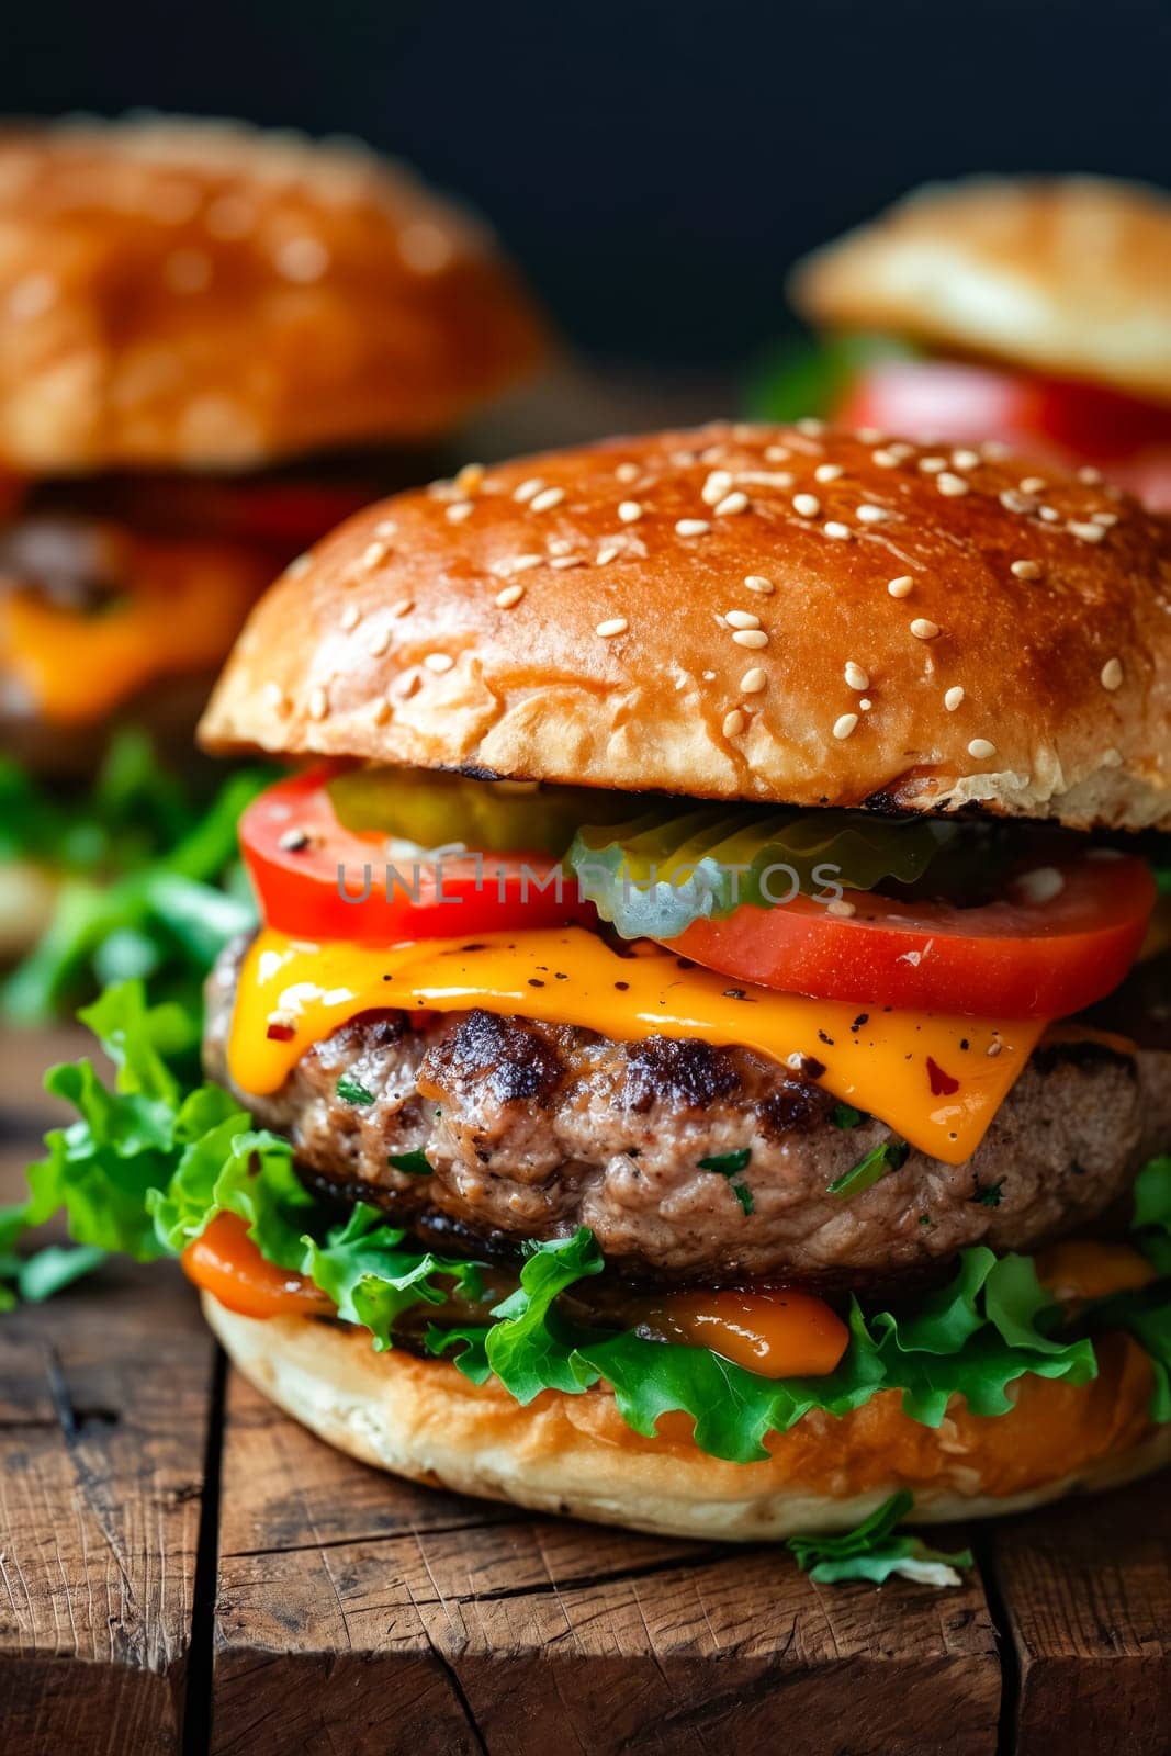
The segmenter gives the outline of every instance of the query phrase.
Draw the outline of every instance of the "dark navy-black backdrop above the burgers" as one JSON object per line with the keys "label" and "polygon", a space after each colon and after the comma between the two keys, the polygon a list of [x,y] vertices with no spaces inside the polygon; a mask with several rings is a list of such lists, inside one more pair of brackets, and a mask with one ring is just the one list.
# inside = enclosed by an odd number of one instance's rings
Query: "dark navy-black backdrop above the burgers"
{"label": "dark navy-black backdrop above the burgers", "polygon": [[1164,0],[32,0],[0,109],[135,105],[349,132],[497,223],[579,342],[732,363],[787,265],[909,184],[1171,184]]}

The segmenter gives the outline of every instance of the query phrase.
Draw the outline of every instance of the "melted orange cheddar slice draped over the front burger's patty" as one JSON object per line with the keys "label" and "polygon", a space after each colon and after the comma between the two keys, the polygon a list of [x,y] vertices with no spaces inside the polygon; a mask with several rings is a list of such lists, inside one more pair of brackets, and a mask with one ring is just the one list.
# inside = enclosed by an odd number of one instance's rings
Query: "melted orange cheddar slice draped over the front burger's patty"
{"label": "melted orange cheddar slice draped over the front burger's patty", "polygon": [[265,927],[241,971],[228,1066],[242,1090],[283,1085],[304,1052],[356,1013],[483,1006],[621,1041],[695,1036],[801,1069],[913,1147],[962,1164],[1029,1059],[1043,1020],[990,1022],[804,999],[688,966],[585,927],[420,939],[383,950],[311,945]]}

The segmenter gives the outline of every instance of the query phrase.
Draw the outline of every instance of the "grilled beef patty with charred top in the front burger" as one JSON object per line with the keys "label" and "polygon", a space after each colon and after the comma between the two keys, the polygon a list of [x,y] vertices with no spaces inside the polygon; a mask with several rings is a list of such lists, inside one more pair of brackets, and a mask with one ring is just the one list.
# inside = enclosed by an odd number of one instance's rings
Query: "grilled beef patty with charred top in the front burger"
{"label": "grilled beef patty with charred top in the front burger", "polygon": [[[241,954],[207,992],[207,1069],[228,1085]],[[372,1103],[339,1098],[342,1075]],[[235,1092],[302,1173],[423,1233],[471,1247],[588,1226],[618,1271],[704,1284],[855,1285],[974,1243],[1032,1249],[1103,1213],[1171,1138],[1171,1052],[1094,1040],[1041,1045],[966,1164],[911,1152],[855,1196],[825,1191],[892,1138],[887,1124],[841,1127],[818,1085],[702,1041],[620,1043],[479,1010],[414,1029],[377,1011],[314,1043],[270,1098]],[[736,1175],[700,1168],[743,1150]],[[406,1154],[430,1175],[388,1162]]]}

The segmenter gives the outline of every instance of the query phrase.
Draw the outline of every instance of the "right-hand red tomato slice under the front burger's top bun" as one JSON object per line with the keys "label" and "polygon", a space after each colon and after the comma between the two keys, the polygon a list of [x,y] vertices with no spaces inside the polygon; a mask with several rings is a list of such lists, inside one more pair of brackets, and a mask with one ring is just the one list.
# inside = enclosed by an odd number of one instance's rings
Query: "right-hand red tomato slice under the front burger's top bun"
{"label": "right-hand red tomato slice under the front burger's top bun", "polygon": [[[1045,867],[1046,873],[1057,867]],[[855,915],[811,897],[697,920],[671,950],[790,994],[978,1018],[1062,1018],[1110,994],[1155,903],[1143,860],[1088,853],[1034,901],[1022,880],[983,908],[851,892]]]}

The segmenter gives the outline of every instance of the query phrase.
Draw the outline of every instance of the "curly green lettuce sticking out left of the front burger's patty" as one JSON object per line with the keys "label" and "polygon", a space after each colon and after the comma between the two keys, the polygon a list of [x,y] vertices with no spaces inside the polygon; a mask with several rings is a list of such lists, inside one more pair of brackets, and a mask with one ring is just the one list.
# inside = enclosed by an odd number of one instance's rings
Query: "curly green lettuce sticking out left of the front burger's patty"
{"label": "curly green lettuce sticking out left of the front burger's patty", "polygon": [[[479,1299],[478,1264],[404,1249],[406,1234],[376,1208],[334,1222],[297,1177],[286,1140],[253,1127],[219,1085],[186,1090],[172,1066],[186,1041],[176,1006],[151,1006],[142,983],[130,982],[107,989],[81,1018],[116,1066],[114,1090],[90,1061],[46,1078],[79,1119],[46,1136],[47,1157],[28,1169],[28,1198],[0,1213],[0,1280],[14,1280],[23,1298],[47,1298],[107,1250],[139,1261],[177,1256],[219,1213],[233,1213],[267,1261],[307,1275],[377,1347],[390,1347],[411,1305],[441,1305],[453,1289]],[[83,1249],[49,1245],[18,1259],[19,1238],[56,1213]]]}

